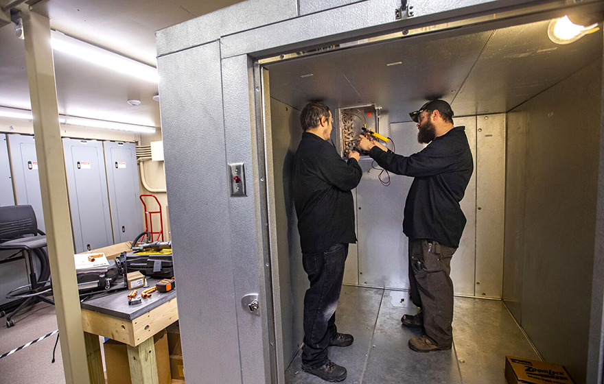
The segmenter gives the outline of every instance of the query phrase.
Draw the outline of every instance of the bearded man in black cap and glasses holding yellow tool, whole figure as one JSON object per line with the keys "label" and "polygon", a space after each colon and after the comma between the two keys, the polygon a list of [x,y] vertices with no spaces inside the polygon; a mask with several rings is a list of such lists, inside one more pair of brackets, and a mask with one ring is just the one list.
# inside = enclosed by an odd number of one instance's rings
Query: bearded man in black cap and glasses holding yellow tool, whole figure
{"label": "bearded man in black cap and glasses holding yellow tool, whole figure", "polygon": [[450,349],[453,343],[453,282],[451,259],[459,246],[465,216],[463,198],[474,163],[465,127],[454,127],[453,110],[443,100],[432,100],[411,112],[419,143],[428,144],[417,154],[400,156],[364,136],[358,147],[368,150],[380,167],[412,176],[407,195],[403,232],[409,238],[409,282],[416,315],[401,319],[408,327],[422,328],[411,337],[417,352]]}

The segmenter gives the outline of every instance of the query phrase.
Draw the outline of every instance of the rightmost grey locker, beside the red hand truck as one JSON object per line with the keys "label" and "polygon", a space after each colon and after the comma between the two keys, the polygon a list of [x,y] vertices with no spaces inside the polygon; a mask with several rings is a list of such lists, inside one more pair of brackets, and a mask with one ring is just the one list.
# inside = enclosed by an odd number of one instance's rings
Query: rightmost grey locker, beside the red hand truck
{"label": "rightmost grey locker, beside the red hand truck", "polygon": [[139,195],[137,147],[134,143],[105,141],[105,165],[113,238],[116,243],[132,241],[143,232],[143,211]]}

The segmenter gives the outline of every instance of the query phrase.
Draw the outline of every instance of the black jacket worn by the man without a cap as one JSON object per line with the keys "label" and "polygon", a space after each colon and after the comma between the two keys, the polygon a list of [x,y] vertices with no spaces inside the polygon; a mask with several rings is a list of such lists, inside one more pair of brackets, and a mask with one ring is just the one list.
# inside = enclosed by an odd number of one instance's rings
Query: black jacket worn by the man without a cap
{"label": "black jacket worn by the man without a cap", "polygon": [[356,243],[351,189],[361,176],[356,160],[346,162],[332,143],[309,132],[302,134],[294,155],[293,187],[303,253]]}

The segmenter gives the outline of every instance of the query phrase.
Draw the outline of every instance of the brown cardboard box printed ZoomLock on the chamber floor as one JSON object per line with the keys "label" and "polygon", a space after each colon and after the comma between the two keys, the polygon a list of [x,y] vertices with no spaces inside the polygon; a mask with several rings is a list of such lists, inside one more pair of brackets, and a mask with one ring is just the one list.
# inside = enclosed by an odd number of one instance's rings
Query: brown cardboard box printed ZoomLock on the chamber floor
{"label": "brown cardboard box printed ZoomLock on the chamber floor", "polygon": [[508,384],[574,384],[562,365],[505,357],[505,379]]}

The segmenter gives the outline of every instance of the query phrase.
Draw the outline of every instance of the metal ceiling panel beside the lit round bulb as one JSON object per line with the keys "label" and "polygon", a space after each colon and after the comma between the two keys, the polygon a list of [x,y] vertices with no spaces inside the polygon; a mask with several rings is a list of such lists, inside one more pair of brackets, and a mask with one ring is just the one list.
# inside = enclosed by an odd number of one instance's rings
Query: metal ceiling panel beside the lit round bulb
{"label": "metal ceiling panel beside the lit round bulb", "polygon": [[601,58],[602,32],[557,45],[547,27],[540,21],[498,29],[453,101],[456,114],[507,112]]}

